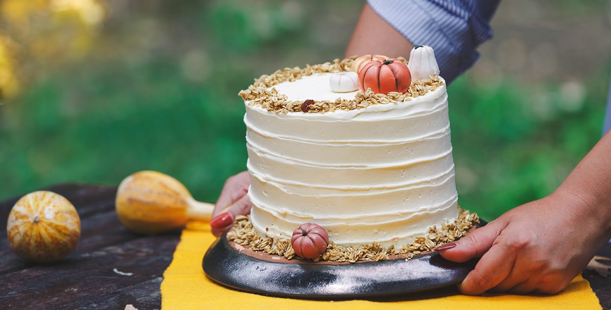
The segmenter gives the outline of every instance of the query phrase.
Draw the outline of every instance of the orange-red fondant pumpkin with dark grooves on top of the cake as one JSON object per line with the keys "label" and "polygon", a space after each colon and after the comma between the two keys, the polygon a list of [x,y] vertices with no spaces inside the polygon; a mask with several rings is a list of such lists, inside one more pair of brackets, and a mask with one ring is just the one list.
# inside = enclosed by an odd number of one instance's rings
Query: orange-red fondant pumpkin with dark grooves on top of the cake
{"label": "orange-red fondant pumpkin with dark grooves on top of the cake", "polygon": [[363,92],[371,88],[374,93],[404,93],[411,82],[408,66],[398,59],[368,62],[359,73],[359,88]]}

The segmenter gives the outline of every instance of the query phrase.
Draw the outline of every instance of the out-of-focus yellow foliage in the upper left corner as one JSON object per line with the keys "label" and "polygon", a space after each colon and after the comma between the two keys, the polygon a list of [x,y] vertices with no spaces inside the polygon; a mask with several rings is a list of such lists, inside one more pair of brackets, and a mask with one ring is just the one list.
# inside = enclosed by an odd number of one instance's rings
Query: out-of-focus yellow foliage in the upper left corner
{"label": "out-of-focus yellow foliage in the upper left corner", "polygon": [[0,104],[18,93],[19,77],[33,81],[47,65],[89,51],[105,5],[101,0],[0,1],[5,26],[0,32]]}

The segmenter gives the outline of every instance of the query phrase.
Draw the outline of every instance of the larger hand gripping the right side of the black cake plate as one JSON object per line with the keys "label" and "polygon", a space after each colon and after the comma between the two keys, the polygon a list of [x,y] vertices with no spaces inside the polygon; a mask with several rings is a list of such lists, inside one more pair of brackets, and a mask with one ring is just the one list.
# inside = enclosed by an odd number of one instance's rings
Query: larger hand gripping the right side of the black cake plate
{"label": "larger hand gripping the right side of the black cake plate", "polygon": [[572,193],[557,191],[516,207],[455,243],[436,250],[445,259],[481,257],[459,289],[478,295],[491,290],[555,294],[565,289],[609,240],[607,220]]}

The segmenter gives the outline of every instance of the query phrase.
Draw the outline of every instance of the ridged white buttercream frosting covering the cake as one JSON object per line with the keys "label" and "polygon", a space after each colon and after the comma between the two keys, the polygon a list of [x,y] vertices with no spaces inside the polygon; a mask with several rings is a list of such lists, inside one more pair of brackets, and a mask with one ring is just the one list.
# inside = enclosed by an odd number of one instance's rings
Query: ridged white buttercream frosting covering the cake
{"label": "ridged white buttercream frosting covering the cake", "polygon": [[[331,73],[275,85],[289,100],[353,99]],[[254,228],[290,239],[305,222],[340,245],[412,242],[458,218],[445,84],[409,101],[277,114],[245,104]]]}

